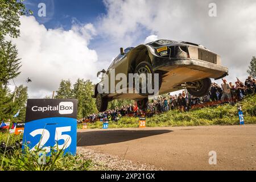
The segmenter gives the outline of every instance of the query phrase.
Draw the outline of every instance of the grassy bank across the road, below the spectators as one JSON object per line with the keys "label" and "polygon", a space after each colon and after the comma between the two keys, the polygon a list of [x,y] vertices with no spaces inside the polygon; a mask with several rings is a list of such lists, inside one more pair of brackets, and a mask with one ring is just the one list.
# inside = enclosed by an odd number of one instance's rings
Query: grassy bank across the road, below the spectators
{"label": "grassy bank across the road, below the spectators", "polygon": [[[256,95],[247,96],[239,102],[245,119],[245,124],[256,123]],[[181,113],[179,110],[146,118],[147,127],[165,126],[201,126],[201,125],[239,125],[237,104],[224,104],[214,107],[197,109]],[[138,127],[138,118],[123,117],[118,122],[109,122],[109,128]],[[82,125],[78,126],[79,129]],[[88,129],[100,129],[102,122],[89,123]]]}

